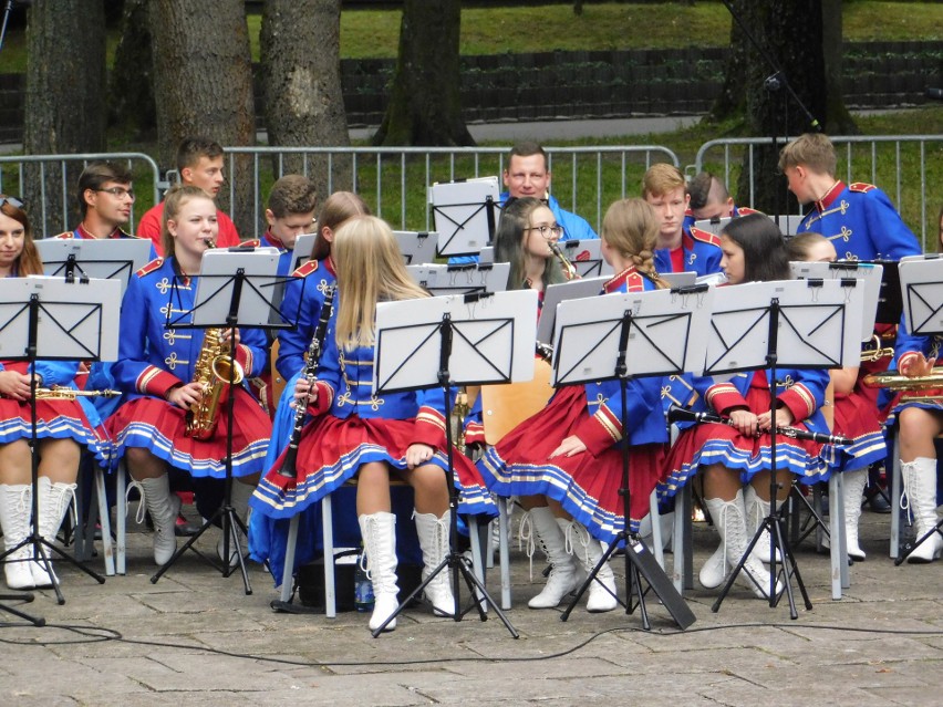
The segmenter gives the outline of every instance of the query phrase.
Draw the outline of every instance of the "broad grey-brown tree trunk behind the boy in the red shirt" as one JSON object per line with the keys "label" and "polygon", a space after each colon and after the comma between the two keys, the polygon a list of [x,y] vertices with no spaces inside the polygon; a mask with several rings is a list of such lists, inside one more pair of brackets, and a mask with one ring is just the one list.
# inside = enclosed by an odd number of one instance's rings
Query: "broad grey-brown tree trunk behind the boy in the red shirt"
{"label": "broad grey-brown tree trunk behind the boy in the red shirt", "polygon": [[[173,165],[177,145],[204,135],[224,147],[255,143],[255,110],[249,33],[241,0],[151,0],[157,148],[162,165]],[[235,209],[224,186],[219,208],[231,210],[237,228],[251,231],[255,216],[251,159],[239,158]],[[228,166],[229,166],[228,165]]]}

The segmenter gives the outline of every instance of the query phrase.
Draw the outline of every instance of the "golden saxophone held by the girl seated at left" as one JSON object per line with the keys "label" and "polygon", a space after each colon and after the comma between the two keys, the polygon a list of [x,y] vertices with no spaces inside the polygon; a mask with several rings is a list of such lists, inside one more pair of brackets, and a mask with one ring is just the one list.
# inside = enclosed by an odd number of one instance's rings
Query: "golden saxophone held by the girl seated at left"
{"label": "golden saxophone held by the girl seated at left", "polygon": [[203,395],[187,410],[184,434],[194,439],[209,439],[219,422],[219,406],[228,393],[229,383],[242,383],[246,377],[242,366],[229,351],[229,340],[221,329],[207,329],[194,367],[194,383],[199,383]]}

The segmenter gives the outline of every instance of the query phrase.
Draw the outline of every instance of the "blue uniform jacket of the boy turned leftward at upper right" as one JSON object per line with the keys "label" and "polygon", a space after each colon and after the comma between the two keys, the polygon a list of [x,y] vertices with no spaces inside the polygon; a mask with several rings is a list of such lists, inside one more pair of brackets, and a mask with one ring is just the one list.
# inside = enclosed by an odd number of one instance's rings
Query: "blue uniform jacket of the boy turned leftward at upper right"
{"label": "blue uniform jacket of the boy turned leftward at upper right", "polygon": [[798,231],[821,233],[832,242],[838,257],[847,260],[873,260],[878,256],[900,260],[922,252],[916,236],[888,196],[870,184],[846,186],[837,181],[815,202]]}

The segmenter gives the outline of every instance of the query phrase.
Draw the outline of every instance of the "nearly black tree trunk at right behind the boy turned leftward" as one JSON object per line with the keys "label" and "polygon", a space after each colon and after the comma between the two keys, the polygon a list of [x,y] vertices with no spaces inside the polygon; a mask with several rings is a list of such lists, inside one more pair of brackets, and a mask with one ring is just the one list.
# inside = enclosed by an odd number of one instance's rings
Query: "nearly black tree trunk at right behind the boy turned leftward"
{"label": "nearly black tree trunk at right behind the boy turned leftward", "polygon": [[[749,3],[747,21],[756,28],[763,46],[748,49],[746,72],[746,129],[769,136],[770,144],[754,150],[754,208],[769,214],[795,214],[798,205],[779,174],[779,149],[787,136],[817,129],[815,122],[831,124],[841,92],[831,92],[825,61],[822,6],[829,0],[757,0]],[[833,0],[840,4],[839,0]],[[801,28],[801,32],[797,31]],[[768,59],[781,69],[775,74]],[[778,86],[778,89],[776,87]],[[789,91],[791,87],[791,91]],[[844,111],[847,115],[847,111]],[[777,144],[771,138],[777,137]],[[745,157],[745,160],[747,158]],[[738,197],[749,194],[749,171],[737,185]],[[740,199],[743,200],[743,199]]]}

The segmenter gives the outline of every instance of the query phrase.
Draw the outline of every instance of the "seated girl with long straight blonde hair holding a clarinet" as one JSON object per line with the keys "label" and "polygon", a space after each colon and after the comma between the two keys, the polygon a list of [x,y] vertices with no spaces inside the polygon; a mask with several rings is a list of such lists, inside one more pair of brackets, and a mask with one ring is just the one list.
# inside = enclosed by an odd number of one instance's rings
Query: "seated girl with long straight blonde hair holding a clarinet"
{"label": "seated girl with long straight blonde hair holding a clarinet", "polygon": [[[376,597],[370,618],[373,631],[397,606],[391,474],[415,492],[424,576],[448,552],[445,401],[438,386],[382,397],[372,394],[376,303],[428,297],[406,272],[390,227],[373,216],[352,218],[334,233],[331,258],[339,288],[334,325],[328,330],[317,382],[309,386],[307,378],[299,378],[296,384],[297,403],[307,404],[315,416],[301,436],[298,478],[279,475],[279,459],[250,502],[257,513],[290,518],[356,475],[357,520]],[[475,467],[463,455],[454,455],[454,460],[462,512],[493,514]],[[426,586],[426,597],[436,614],[452,615],[455,607],[447,573],[437,574]],[[386,630],[394,627],[395,621]]]}

